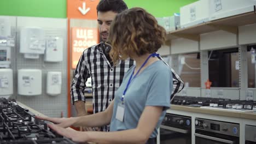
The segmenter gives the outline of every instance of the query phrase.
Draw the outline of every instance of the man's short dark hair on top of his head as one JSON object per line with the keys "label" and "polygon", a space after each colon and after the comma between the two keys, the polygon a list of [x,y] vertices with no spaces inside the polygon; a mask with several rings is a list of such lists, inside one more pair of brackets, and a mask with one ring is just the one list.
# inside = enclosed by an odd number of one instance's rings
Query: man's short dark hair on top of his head
{"label": "man's short dark hair on top of his head", "polygon": [[98,11],[107,12],[113,11],[115,13],[121,13],[122,11],[128,9],[126,3],[123,0],[101,0],[97,5]]}

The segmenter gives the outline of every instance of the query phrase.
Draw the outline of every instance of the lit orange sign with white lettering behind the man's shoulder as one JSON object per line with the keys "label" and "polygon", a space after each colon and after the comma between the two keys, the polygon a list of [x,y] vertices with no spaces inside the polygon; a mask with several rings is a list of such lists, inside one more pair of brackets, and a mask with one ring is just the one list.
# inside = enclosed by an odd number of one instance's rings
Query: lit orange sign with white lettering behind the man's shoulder
{"label": "lit orange sign with white lettering behind the man's shoulder", "polygon": [[72,27],[72,69],[77,67],[80,56],[83,51],[92,45],[98,43],[97,28],[79,28]]}

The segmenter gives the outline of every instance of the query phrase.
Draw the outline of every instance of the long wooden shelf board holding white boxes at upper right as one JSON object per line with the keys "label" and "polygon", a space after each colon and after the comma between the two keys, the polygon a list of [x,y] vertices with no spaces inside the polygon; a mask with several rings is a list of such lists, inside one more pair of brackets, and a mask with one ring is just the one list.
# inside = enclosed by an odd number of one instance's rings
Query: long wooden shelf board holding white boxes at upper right
{"label": "long wooden shelf board holding white boxes at upper right", "polygon": [[168,32],[167,40],[185,38],[199,41],[200,34],[218,30],[237,34],[239,26],[245,26],[252,23],[256,23],[256,14],[254,12],[249,12],[215,21],[208,21],[205,23],[201,23],[200,25],[178,29],[177,31]]}

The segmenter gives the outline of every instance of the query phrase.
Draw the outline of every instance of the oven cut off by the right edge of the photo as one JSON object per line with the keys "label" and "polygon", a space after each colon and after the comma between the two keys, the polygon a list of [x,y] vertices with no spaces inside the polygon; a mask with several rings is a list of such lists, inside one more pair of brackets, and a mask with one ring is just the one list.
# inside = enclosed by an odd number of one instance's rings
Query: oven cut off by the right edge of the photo
{"label": "oven cut off by the right edge of the photo", "polygon": [[256,125],[245,126],[245,144],[256,144]]}

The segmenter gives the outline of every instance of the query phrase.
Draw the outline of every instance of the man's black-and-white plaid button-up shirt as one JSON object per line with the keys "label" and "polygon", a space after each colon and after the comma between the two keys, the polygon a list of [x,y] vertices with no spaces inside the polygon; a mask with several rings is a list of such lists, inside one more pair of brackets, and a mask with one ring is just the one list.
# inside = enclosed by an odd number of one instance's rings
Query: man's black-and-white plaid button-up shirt
{"label": "man's black-and-white plaid button-up shirt", "polygon": [[[161,57],[159,58],[162,60]],[[94,113],[106,110],[114,99],[114,94],[121,85],[126,71],[134,64],[135,61],[127,59],[120,61],[116,67],[113,67],[104,55],[101,43],[89,47],[83,52],[74,71],[71,85],[72,103],[74,104],[77,100],[85,101],[85,82],[91,76]],[[181,91],[184,85],[175,71],[171,70],[173,73],[171,98],[173,98],[174,94]]]}

